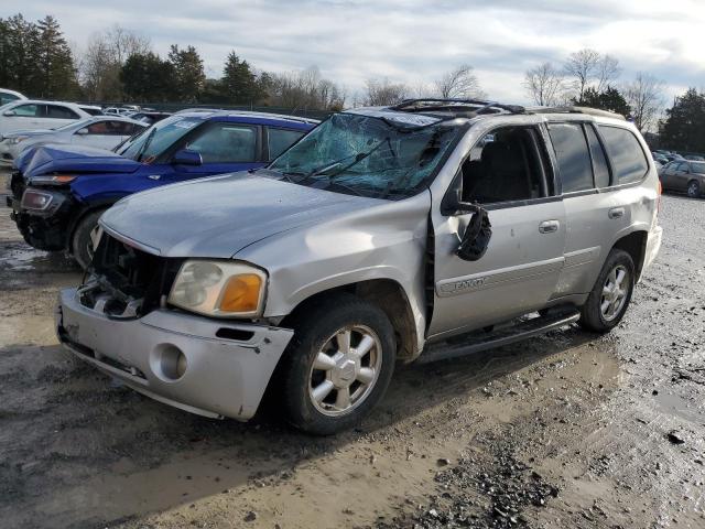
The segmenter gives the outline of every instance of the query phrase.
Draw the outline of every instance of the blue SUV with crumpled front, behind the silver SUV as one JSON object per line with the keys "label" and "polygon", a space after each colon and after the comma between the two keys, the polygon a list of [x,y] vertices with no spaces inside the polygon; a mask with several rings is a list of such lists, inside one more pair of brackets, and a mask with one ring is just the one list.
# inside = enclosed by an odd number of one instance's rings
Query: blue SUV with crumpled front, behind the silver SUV
{"label": "blue SUV with crumpled front, behind the silver SUV", "polygon": [[[270,114],[184,114],[159,121],[117,152],[84,145],[31,147],[15,160],[12,217],[28,244],[90,259],[90,231],[131,193],[212,174],[260,168],[315,121]],[[194,208],[208,208],[194,203]]]}

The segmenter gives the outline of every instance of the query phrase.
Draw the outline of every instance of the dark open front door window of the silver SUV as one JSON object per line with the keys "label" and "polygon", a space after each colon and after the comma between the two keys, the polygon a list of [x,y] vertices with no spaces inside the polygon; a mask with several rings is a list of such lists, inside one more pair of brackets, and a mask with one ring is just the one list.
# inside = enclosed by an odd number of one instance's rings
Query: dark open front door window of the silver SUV
{"label": "dark open front door window of the silver SUV", "polygon": [[497,204],[550,196],[546,155],[533,127],[506,127],[482,137],[463,163],[465,202]]}

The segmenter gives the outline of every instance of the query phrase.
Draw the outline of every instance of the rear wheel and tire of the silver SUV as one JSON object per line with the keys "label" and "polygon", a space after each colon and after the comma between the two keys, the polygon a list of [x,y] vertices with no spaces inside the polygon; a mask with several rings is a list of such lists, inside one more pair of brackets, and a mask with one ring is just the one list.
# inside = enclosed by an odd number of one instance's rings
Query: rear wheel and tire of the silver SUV
{"label": "rear wheel and tire of the silver SUV", "polygon": [[[623,277],[619,279],[622,272]],[[631,301],[634,277],[631,256],[623,250],[612,249],[587,301],[581,307],[581,326],[604,334],[619,325]]]}

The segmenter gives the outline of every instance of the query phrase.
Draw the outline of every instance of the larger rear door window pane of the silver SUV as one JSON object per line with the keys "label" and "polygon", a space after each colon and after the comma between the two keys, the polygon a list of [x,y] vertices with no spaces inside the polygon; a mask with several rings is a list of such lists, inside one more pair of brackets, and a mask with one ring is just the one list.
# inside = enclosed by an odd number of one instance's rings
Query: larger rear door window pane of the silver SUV
{"label": "larger rear door window pane of the silver SUV", "polygon": [[594,187],[593,164],[582,123],[551,123],[549,136],[558,162],[563,193]]}

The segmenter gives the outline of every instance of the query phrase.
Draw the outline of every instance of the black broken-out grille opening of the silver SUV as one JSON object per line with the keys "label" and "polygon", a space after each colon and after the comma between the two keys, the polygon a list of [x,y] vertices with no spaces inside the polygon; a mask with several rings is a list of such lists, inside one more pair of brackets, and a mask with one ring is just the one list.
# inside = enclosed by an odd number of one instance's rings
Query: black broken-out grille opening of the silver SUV
{"label": "black broken-out grille opening of the silver SUV", "polygon": [[111,317],[143,316],[163,303],[182,262],[148,253],[104,233],[88,281],[80,289],[80,301]]}

